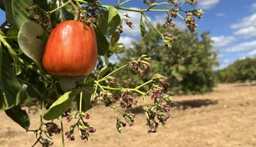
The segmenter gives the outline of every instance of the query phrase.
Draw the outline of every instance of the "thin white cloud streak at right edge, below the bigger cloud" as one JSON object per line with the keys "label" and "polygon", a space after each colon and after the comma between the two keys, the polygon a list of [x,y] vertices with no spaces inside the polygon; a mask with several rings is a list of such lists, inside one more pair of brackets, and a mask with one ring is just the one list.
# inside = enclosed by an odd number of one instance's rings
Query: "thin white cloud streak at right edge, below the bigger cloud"
{"label": "thin white cloud streak at right edge, below the bigger cloud", "polygon": [[234,47],[228,48],[228,52],[236,52],[236,51],[250,51],[256,49],[256,41],[245,42],[242,44],[238,44]]}

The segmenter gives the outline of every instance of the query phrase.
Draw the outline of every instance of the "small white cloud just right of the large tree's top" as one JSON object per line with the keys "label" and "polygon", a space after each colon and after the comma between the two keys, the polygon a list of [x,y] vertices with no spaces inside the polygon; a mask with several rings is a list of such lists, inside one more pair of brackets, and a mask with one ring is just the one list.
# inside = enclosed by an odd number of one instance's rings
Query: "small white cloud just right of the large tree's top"
{"label": "small white cloud just right of the large tree's top", "polygon": [[230,44],[233,41],[236,41],[234,36],[215,36],[212,37],[212,45],[213,47],[225,47],[226,45]]}

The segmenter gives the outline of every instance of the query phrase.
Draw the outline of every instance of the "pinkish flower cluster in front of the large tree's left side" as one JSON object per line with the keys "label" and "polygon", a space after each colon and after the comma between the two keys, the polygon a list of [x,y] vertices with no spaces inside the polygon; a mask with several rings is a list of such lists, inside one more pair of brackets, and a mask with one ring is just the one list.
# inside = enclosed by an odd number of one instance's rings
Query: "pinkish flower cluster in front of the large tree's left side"
{"label": "pinkish flower cluster in front of the large tree's left side", "polygon": [[132,58],[128,64],[133,67],[133,71],[139,72],[142,76],[144,76],[146,71],[150,70],[151,68],[150,63],[151,57],[146,57],[146,55],[143,54],[138,60]]}

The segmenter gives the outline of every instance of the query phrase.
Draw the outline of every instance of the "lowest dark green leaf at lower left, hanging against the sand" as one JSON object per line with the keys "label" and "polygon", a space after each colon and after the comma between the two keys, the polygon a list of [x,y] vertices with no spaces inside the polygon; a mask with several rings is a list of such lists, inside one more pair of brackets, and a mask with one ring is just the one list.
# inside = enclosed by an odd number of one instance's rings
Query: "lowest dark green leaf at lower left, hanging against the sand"
{"label": "lowest dark green leaf at lower left, hanging against the sand", "polygon": [[25,109],[21,109],[20,105],[5,110],[5,113],[15,121],[15,123],[18,123],[22,128],[28,130],[30,126],[29,116]]}

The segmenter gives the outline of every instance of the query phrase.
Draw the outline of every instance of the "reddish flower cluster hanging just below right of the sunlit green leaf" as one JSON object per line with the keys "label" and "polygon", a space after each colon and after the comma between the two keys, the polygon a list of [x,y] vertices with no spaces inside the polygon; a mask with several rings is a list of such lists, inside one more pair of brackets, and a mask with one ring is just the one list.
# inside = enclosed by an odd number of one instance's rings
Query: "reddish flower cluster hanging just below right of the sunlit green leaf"
{"label": "reddish flower cluster hanging just below right of the sunlit green leaf", "polygon": [[70,141],[74,141],[74,128],[77,127],[80,139],[89,139],[90,133],[96,132],[94,127],[90,126],[89,123],[85,122],[84,119],[90,119],[90,115],[88,113],[79,112],[73,114],[72,119],[78,119],[77,123],[68,127],[67,131],[65,132],[65,136]]}

